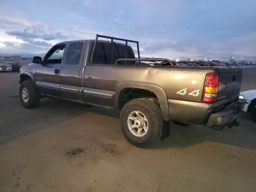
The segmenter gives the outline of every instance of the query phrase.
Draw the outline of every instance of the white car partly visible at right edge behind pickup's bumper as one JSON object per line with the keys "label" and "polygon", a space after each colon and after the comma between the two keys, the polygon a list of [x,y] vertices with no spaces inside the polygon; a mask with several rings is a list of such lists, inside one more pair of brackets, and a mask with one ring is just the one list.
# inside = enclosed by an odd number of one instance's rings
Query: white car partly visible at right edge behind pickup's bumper
{"label": "white car partly visible at right edge behind pickup's bumper", "polygon": [[247,100],[243,111],[250,112],[254,121],[256,121],[256,89],[243,91],[240,93]]}

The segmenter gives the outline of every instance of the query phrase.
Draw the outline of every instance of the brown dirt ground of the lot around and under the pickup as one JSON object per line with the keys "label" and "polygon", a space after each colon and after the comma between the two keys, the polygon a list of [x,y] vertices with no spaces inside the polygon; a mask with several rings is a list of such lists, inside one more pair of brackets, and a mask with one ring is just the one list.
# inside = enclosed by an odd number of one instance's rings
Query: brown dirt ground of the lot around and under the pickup
{"label": "brown dirt ground of the lot around and under the pickup", "polygon": [[[256,88],[244,69],[242,90]],[[0,73],[0,192],[255,192],[256,123],[216,131],[170,122],[170,137],[140,149],[108,110],[44,98],[28,110],[18,73]]]}

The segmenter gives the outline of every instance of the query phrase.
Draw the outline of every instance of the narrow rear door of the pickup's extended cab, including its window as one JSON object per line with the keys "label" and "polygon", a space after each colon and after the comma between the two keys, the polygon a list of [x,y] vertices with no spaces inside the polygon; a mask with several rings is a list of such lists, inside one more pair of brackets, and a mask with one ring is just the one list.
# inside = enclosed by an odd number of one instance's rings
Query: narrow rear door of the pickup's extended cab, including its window
{"label": "narrow rear door of the pickup's extended cab, including its window", "polygon": [[68,44],[65,58],[60,70],[60,95],[74,101],[83,102],[82,74],[83,55],[86,41],[75,41]]}

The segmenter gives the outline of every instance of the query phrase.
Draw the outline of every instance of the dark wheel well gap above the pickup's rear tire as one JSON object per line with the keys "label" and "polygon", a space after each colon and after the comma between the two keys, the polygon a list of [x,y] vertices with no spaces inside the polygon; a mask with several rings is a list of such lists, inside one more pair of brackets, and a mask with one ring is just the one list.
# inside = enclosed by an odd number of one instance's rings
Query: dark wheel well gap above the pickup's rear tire
{"label": "dark wheel well gap above the pickup's rear tire", "polygon": [[146,89],[140,89],[140,88],[124,88],[119,94],[118,98],[118,108],[119,110],[122,109],[122,107],[130,100],[142,98],[142,97],[148,97],[148,98],[155,98],[158,103],[158,98],[156,94],[153,92],[146,90]]}

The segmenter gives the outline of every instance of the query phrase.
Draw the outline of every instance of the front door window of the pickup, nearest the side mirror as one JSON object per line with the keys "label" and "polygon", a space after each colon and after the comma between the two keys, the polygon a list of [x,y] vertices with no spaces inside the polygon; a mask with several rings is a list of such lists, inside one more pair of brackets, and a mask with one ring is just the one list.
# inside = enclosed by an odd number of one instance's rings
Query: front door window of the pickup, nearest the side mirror
{"label": "front door window of the pickup, nearest the side mirror", "polygon": [[54,46],[45,57],[45,64],[60,64],[64,53],[65,44]]}

